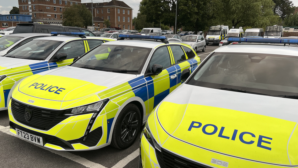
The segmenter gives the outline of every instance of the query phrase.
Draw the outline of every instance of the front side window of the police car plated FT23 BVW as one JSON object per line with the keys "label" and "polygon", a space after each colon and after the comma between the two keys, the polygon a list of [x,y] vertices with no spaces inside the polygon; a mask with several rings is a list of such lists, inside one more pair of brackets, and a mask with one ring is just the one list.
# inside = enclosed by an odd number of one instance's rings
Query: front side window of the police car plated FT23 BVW
{"label": "front side window of the police car plated FT23 BVW", "polygon": [[171,65],[170,54],[167,47],[160,47],[154,52],[149,64],[150,69],[154,64],[162,65],[163,68]]}

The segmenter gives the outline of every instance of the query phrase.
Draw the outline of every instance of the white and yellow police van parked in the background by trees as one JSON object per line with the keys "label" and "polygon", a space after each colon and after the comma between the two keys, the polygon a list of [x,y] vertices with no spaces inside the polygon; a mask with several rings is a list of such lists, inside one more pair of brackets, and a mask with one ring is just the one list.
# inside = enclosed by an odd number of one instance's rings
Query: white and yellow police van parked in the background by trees
{"label": "white and yellow police van parked in the background by trees", "polygon": [[219,45],[219,42],[224,39],[224,37],[229,32],[229,26],[217,25],[211,26],[206,35],[206,44],[216,44]]}

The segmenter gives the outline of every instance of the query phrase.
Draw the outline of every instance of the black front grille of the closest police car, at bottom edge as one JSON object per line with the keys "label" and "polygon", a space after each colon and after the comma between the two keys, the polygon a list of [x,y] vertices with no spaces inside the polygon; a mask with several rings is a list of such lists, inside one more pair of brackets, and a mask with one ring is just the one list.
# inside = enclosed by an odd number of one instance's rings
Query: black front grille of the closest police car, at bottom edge
{"label": "black front grille of the closest police car, at bottom edge", "polygon": [[[175,155],[172,152],[162,149],[162,152],[156,151],[157,161],[161,168],[211,168],[181,156]],[[210,160],[211,162],[211,160]]]}

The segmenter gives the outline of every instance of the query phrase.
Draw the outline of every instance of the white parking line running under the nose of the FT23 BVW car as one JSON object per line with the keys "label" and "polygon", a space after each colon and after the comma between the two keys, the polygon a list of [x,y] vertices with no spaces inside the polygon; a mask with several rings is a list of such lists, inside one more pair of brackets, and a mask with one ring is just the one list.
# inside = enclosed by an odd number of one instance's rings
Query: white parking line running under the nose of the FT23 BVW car
{"label": "white parking line running under the nose of the FT23 BVW car", "polygon": [[[12,136],[16,136],[15,134],[9,132],[9,126],[8,127],[4,127],[4,126],[1,126],[0,125],[0,131],[3,132],[3,133],[6,133],[6,134],[12,135]],[[29,143],[31,143],[31,142],[29,142]],[[31,143],[31,144],[33,144],[33,143]],[[56,150],[49,149],[49,148],[46,148],[46,147],[43,147],[43,146],[40,146],[40,145],[36,145],[36,144],[33,144],[33,145],[38,146],[38,147],[41,147],[42,149],[45,149],[47,151],[50,151],[50,152],[55,153],[57,155],[60,155],[60,156],[62,156],[64,158],[70,159],[70,160],[72,160],[74,162],[80,163],[83,166],[86,166],[86,167],[89,167],[89,168],[107,168],[107,167],[105,167],[105,166],[103,166],[101,164],[91,162],[91,161],[89,161],[89,160],[87,160],[85,158],[82,158],[82,157],[80,157],[78,155],[71,154],[71,153],[69,153],[67,151],[56,151]],[[132,154],[130,154],[130,155],[132,155]]]}

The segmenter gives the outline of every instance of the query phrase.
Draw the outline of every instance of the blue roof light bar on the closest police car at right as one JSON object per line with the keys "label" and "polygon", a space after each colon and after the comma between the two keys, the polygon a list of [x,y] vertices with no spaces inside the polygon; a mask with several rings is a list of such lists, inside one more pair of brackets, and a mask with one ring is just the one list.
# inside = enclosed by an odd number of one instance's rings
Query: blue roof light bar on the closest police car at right
{"label": "blue roof light bar on the closest police car at right", "polygon": [[228,42],[250,42],[250,43],[280,43],[280,44],[298,44],[298,39],[264,39],[264,38],[236,38],[230,37]]}

